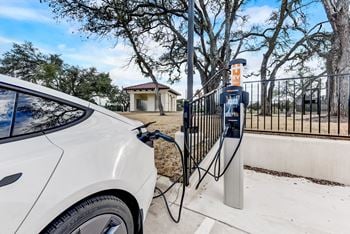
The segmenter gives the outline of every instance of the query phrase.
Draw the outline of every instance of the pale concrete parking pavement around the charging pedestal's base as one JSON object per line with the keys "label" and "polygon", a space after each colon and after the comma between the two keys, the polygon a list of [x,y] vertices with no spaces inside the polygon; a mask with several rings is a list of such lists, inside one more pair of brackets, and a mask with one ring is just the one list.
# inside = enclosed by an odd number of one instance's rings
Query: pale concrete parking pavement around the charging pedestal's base
{"label": "pale concrete parking pavement around the charging pedestal's base", "polygon": [[[166,183],[159,178],[159,187]],[[223,180],[207,178],[198,190],[187,190],[179,224],[170,220],[163,200],[154,199],[145,233],[349,233],[350,187],[245,170],[244,192],[244,209],[230,208],[223,204]],[[167,197],[177,212],[178,189]]]}

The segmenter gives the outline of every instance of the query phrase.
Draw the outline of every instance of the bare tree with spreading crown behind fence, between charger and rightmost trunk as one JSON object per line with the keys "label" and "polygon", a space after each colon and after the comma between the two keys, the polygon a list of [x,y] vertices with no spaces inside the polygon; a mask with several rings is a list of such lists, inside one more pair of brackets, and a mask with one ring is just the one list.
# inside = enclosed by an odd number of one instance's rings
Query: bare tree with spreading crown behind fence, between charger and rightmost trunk
{"label": "bare tree with spreading crown behind fence, between charger and rightmost trunk", "polygon": [[[314,0],[281,0],[279,9],[273,11],[263,25],[253,26],[248,32],[237,32],[238,41],[247,51],[263,52],[259,71],[262,114],[271,114],[275,80],[280,71],[308,72],[307,62],[329,50],[330,34],[323,25],[326,21],[310,26],[305,9]],[[241,36],[239,36],[241,35]]]}

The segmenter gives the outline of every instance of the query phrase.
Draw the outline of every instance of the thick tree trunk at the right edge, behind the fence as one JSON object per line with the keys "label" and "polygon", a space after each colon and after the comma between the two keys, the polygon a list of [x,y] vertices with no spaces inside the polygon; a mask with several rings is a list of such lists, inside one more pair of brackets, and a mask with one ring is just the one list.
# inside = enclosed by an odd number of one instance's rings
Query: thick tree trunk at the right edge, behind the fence
{"label": "thick tree trunk at the right edge, behind the fence", "polygon": [[328,95],[331,112],[337,114],[338,97],[340,115],[348,115],[349,80],[341,74],[350,74],[350,2],[349,0],[322,0],[331,24],[332,48],[327,54],[327,73],[330,76]]}

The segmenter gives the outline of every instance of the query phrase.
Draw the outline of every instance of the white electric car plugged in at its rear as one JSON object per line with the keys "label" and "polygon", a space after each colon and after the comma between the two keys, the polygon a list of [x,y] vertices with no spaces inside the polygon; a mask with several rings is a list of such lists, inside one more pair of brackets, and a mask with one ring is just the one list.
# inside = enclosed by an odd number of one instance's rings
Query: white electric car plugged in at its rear
{"label": "white electric car plugged in at its rear", "polygon": [[157,172],[139,125],[0,75],[0,233],[142,233]]}

